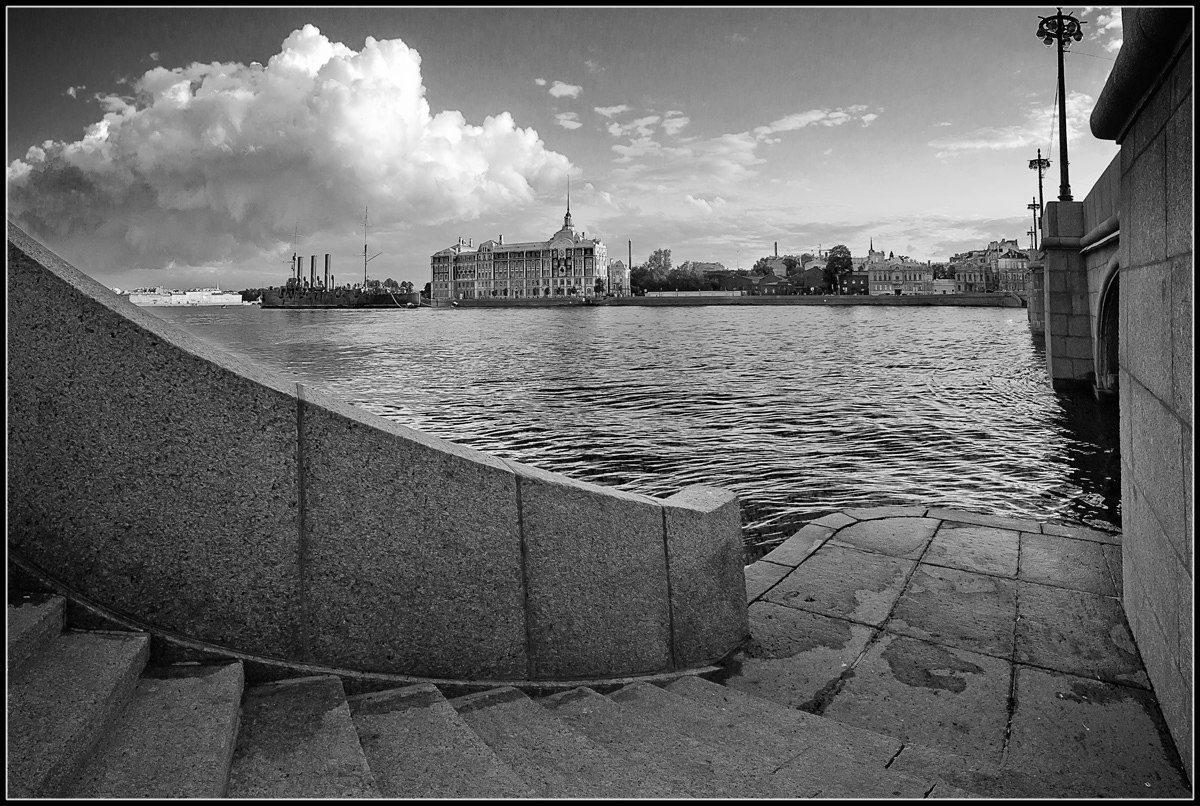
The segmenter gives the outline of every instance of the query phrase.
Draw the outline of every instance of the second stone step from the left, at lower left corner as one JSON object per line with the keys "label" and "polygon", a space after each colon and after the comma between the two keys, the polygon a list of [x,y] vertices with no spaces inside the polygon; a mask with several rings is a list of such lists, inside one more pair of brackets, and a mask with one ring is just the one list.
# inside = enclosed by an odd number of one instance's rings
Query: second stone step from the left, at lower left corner
{"label": "second stone step from the left, at lower left corner", "polygon": [[8,678],[8,796],[60,795],[133,697],[150,637],[67,631]]}

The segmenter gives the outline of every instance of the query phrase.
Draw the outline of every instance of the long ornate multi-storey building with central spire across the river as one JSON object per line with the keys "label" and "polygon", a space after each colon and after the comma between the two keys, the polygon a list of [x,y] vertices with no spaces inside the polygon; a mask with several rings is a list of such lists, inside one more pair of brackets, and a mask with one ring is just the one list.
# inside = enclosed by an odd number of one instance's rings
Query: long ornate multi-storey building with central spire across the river
{"label": "long ornate multi-storey building with central spire across the river", "polygon": [[[500,236],[475,247],[460,237],[431,255],[431,293],[434,300],[604,296],[611,283],[607,247],[586,235],[571,225],[568,202],[562,229],[546,241],[505,243]],[[626,293],[628,284],[626,272]]]}

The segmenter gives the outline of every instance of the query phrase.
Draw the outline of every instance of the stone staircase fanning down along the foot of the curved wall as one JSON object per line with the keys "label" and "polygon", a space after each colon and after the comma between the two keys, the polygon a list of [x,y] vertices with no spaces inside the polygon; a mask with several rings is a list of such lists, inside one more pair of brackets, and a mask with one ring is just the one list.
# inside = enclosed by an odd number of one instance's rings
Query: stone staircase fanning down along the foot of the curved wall
{"label": "stone staircase fanning down along the foot of the curved wall", "polygon": [[961,796],[889,770],[896,739],[697,676],[347,697],[334,675],[244,686],[240,662],[148,666],[145,633],[8,604],[10,798]]}

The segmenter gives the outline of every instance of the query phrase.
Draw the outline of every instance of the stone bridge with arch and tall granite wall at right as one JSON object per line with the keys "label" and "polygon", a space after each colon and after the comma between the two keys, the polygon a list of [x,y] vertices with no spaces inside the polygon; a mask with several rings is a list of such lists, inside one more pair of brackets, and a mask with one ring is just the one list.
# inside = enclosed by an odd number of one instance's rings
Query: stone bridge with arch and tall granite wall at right
{"label": "stone bridge with arch and tall granite wall at right", "polygon": [[1122,22],[1091,119],[1121,152],[1082,202],[1046,204],[1028,315],[1055,387],[1118,401],[1126,614],[1190,759],[1193,14],[1123,8]]}

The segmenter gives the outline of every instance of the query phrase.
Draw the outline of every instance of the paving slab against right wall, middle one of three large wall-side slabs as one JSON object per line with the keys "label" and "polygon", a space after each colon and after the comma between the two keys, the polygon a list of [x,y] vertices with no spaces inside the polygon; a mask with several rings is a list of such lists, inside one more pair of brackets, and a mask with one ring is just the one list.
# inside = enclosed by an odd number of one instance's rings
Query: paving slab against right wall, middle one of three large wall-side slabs
{"label": "paving slab against right wall, middle one of three large wall-side slabs", "polygon": [[1018,662],[1150,687],[1116,599],[1018,582]]}

